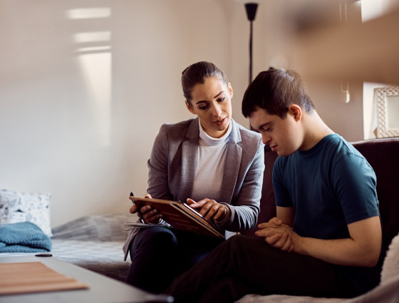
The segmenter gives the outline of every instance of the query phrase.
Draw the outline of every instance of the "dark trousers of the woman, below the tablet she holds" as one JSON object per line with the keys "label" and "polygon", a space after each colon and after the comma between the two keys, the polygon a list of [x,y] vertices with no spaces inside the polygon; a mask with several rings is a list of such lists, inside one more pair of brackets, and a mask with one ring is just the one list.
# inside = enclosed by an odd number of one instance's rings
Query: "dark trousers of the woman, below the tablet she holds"
{"label": "dark trousers of the woman, below the tablet she holds", "polygon": [[160,293],[223,241],[166,227],[142,228],[130,245],[126,282]]}

